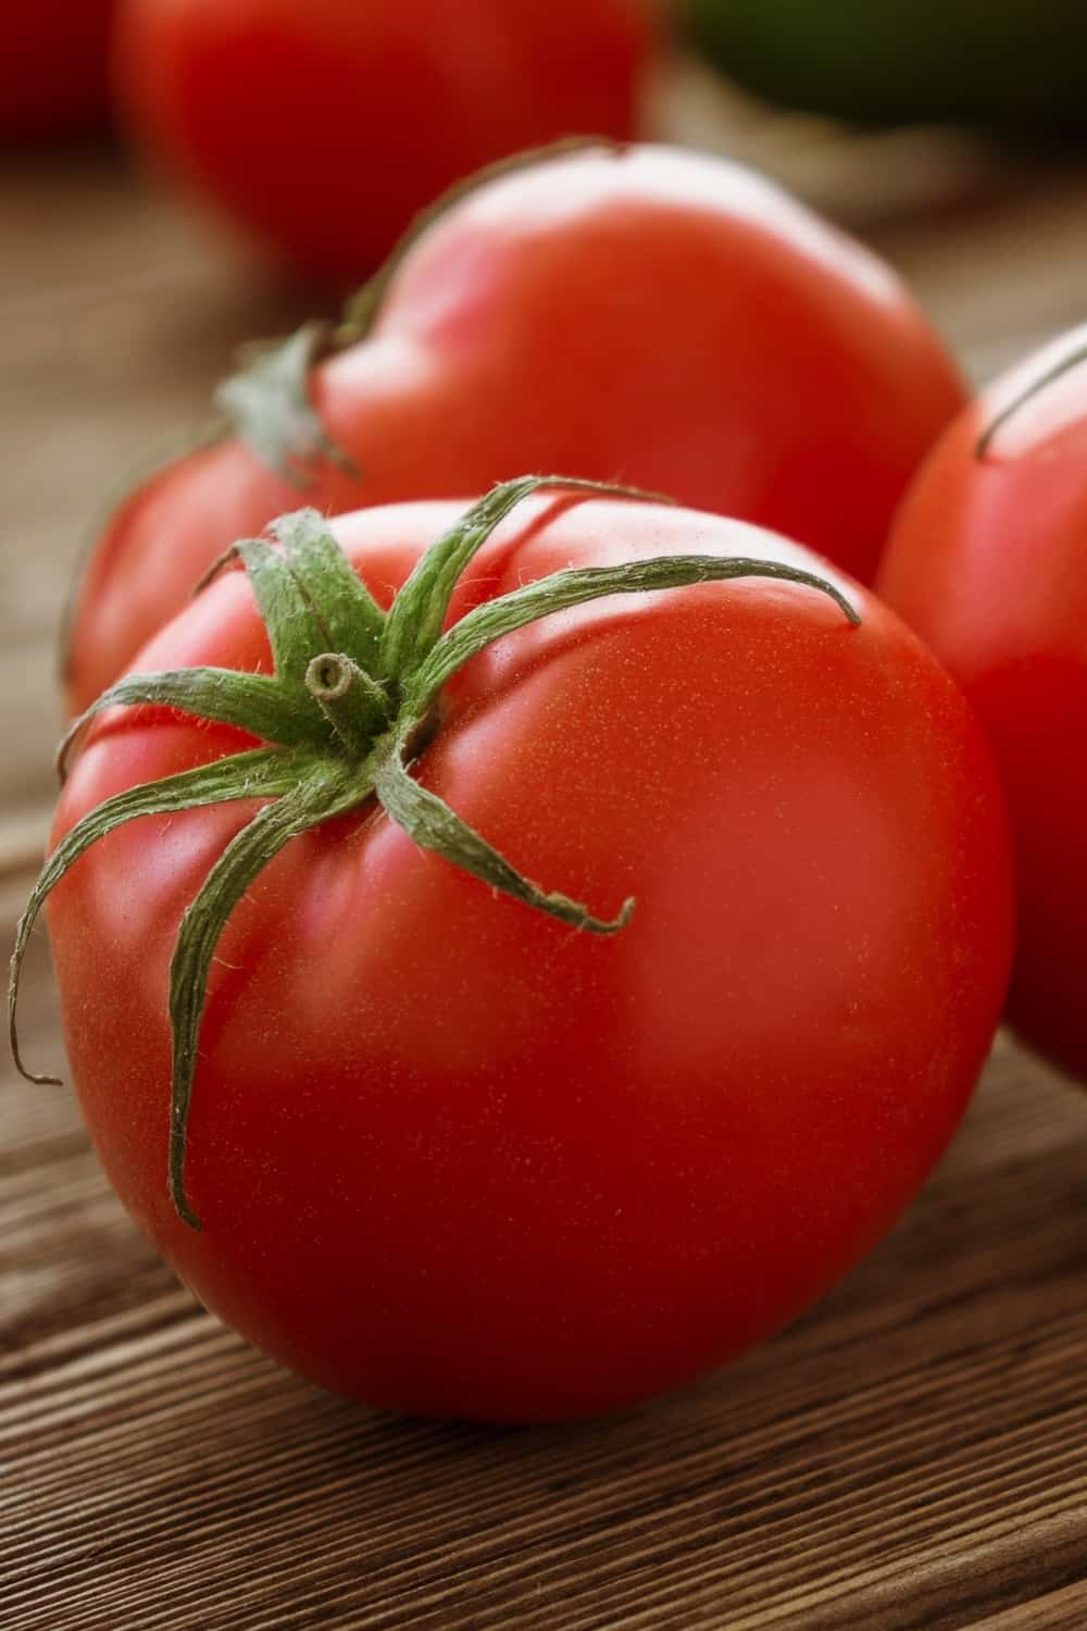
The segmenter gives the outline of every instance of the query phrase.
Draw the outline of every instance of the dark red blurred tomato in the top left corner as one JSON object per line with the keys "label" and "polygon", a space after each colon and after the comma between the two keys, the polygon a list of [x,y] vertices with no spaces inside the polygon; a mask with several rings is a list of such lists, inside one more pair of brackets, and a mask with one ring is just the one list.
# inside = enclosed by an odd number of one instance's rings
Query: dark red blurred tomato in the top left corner
{"label": "dark red blurred tomato in the top left corner", "polygon": [[0,44],[0,145],[106,129],[114,10],[116,0],[8,0]]}

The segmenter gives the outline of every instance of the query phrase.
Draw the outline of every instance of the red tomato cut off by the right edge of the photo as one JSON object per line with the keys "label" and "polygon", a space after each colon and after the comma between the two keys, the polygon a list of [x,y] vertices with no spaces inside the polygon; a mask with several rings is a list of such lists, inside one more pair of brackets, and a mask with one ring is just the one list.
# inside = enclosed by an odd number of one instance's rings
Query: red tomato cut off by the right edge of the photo
{"label": "red tomato cut off by the right edge of the photo", "polygon": [[924,636],[989,736],[1012,816],[1019,938],[1009,1018],[1087,1078],[1087,365],[1015,396],[1087,346],[1032,356],[934,450],[898,515],[880,592]]}

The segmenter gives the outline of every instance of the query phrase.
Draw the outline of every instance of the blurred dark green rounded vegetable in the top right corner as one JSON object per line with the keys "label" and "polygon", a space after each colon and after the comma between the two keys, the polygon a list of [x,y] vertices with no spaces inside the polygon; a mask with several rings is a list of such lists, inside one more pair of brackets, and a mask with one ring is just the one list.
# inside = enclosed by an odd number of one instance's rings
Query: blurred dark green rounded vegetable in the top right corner
{"label": "blurred dark green rounded vegetable in the top right corner", "polygon": [[1084,0],[683,0],[727,73],[841,119],[1087,122]]}

